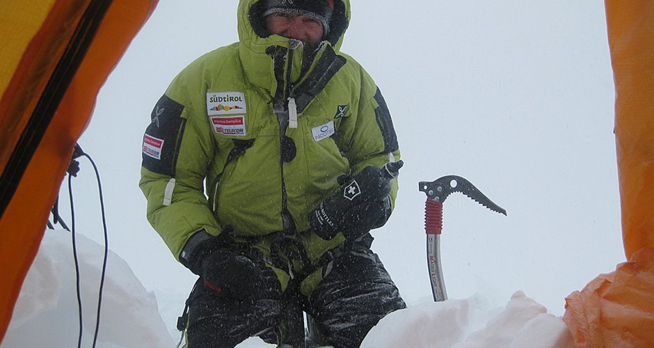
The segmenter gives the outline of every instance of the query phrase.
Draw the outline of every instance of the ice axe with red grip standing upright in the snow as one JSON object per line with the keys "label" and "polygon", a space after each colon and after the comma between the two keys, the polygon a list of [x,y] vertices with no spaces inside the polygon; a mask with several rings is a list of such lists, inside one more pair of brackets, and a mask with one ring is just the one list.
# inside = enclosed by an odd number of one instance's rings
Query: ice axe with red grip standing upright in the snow
{"label": "ice axe with red grip standing upright in the snow", "polygon": [[484,207],[493,210],[493,212],[507,215],[507,211],[493,203],[477,187],[474,187],[468,180],[460,176],[447,175],[433,182],[421,181],[419,185],[420,191],[427,194],[424,207],[424,230],[427,234],[427,267],[429,267],[433,301],[445,301],[447,294],[445,293],[445,283],[443,283],[440,264],[442,203],[445,202],[445,198],[454,192],[461,192],[477,201],[477,203],[484,205]]}

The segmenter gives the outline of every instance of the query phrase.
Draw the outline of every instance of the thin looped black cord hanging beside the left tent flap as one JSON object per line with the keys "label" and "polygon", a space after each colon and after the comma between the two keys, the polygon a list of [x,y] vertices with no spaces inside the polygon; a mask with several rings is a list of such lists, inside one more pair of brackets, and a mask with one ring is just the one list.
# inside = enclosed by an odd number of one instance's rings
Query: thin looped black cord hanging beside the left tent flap
{"label": "thin looped black cord hanging beside the left tent flap", "polygon": [[[97,166],[95,165],[93,159],[89,155],[84,153],[79,147],[79,145],[76,144],[73,153],[72,162],[77,163],[77,161],[75,161],[74,159],[80,156],[88,158],[88,161],[90,161],[91,165],[93,165],[93,169],[95,171],[95,177],[97,180],[97,187],[99,191],[100,209],[102,211],[102,227],[104,228],[104,260],[102,261],[102,276],[100,277],[100,287],[97,297],[97,317],[95,320],[95,333],[93,335],[93,347],[95,348],[95,345],[97,344],[97,335],[100,326],[100,310],[102,308],[102,291],[104,289],[104,278],[106,275],[106,262],[107,262],[107,256],[109,255],[109,237],[106,229],[106,215],[104,213],[104,198],[102,197],[102,183],[100,182],[99,171],[97,170]],[[77,167],[77,170],[79,170],[79,166]],[[69,171],[68,192],[70,196],[70,214],[72,216],[72,249],[73,249],[73,257],[75,260],[75,273],[77,275],[77,306],[79,308],[79,338],[77,340],[77,347],[81,348],[81,338],[83,332],[82,303],[81,303],[81,292],[80,292],[79,261],[77,260],[77,245],[75,243],[75,211],[73,205],[72,184],[71,184],[71,178],[73,176],[77,176],[77,170],[74,171],[74,173],[71,173],[71,171]]]}

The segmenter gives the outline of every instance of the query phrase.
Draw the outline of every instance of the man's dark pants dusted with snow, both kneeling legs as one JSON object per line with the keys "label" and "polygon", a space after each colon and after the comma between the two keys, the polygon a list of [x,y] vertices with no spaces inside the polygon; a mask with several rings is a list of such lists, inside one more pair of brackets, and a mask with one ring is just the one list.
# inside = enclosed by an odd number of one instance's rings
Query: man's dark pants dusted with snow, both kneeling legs
{"label": "man's dark pants dusted with snow, both kneeling legs", "polygon": [[[358,347],[381,318],[406,307],[371,242],[351,244],[323,267],[322,280],[303,299],[303,309],[334,347]],[[250,336],[278,343],[283,313],[282,301],[225,299],[199,283],[189,297],[188,347],[234,347]]]}

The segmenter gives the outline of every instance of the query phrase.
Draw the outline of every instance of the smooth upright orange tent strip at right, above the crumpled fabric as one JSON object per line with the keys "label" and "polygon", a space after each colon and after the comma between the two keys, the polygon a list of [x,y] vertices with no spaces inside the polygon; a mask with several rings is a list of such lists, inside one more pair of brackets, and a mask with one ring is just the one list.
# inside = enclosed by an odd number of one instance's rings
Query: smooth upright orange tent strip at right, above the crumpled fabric
{"label": "smooth upright orange tent strip at right, above the crumpled fabric", "polygon": [[627,260],[654,246],[654,1],[607,0]]}

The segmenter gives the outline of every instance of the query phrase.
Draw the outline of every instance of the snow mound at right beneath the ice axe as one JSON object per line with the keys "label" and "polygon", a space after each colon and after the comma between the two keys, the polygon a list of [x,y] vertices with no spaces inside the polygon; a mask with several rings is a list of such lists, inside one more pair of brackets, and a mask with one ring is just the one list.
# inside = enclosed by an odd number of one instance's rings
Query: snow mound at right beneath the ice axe
{"label": "snow mound at right beneath the ice axe", "polygon": [[503,309],[479,302],[450,299],[391,313],[361,347],[575,347],[563,320],[522,291]]}

